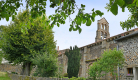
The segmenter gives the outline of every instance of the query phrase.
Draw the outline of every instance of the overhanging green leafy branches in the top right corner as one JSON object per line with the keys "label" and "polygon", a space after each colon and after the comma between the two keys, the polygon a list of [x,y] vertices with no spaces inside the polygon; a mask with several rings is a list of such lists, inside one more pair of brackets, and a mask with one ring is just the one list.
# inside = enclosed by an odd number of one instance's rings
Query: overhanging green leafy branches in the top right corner
{"label": "overhanging green leafy branches in the top right corner", "polygon": [[[117,15],[118,6],[122,8],[122,12],[125,11],[125,7],[128,8],[131,13],[130,17],[125,21],[121,21],[120,25],[122,29],[127,31],[135,26],[138,26],[138,1],[137,0],[110,0],[110,4],[105,7],[108,11],[114,12]],[[114,14],[113,13],[113,14]]]}

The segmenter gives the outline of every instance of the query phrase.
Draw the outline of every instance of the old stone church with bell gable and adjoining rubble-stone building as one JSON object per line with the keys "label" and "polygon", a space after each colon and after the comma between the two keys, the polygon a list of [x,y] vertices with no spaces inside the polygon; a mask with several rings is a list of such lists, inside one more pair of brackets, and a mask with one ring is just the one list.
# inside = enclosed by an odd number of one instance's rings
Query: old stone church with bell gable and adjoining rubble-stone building
{"label": "old stone church with bell gable and adjoining rubble-stone building", "polygon": [[[118,80],[138,80],[138,28],[110,37],[109,23],[105,18],[98,20],[95,42],[80,47],[82,54],[80,61],[79,77],[88,77],[88,69],[107,49],[123,49],[125,64],[123,68],[118,67]],[[68,58],[65,50],[59,50],[58,61],[63,65],[63,74],[67,73]],[[111,74],[103,77],[112,80]]]}

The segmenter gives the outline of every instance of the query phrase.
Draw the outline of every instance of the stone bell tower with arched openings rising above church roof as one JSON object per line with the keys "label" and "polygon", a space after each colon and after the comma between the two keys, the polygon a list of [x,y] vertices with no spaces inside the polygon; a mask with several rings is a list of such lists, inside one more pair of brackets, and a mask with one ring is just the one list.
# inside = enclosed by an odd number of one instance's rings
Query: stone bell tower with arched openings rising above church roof
{"label": "stone bell tower with arched openings rising above church roof", "polygon": [[95,42],[109,38],[109,23],[105,18],[98,20]]}

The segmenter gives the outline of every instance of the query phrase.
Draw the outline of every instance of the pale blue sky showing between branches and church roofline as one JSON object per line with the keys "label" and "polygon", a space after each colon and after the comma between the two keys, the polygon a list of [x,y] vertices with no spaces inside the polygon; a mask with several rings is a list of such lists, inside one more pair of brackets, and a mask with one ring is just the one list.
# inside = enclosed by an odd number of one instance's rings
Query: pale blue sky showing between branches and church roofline
{"label": "pale blue sky showing between branches and church roofline", "polygon": [[[78,31],[69,31],[70,24],[69,18],[67,18],[66,23],[64,25],[60,25],[60,27],[54,26],[54,40],[57,41],[56,46],[59,46],[59,50],[70,48],[70,46],[77,45],[78,47],[82,47],[95,42],[96,30],[97,30],[97,20],[101,18],[105,18],[109,23],[109,33],[110,37],[126,32],[126,29],[123,30],[120,26],[120,21],[125,21],[128,19],[130,13],[128,9],[125,9],[125,12],[122,12],[121,8],[118,8],[118,15],[113,15],[111,12],[107,12],[104,8],[106,7],[106,3],[109,3],[109,0],[76,0],[76,4],[78,7],[81,4],[85,4],[85,13],[90,13],[94,8],[95,10],[100,10],[104,13],[102,17],[96,16],[95,22],[91,24],[91,26],[86,26],[85,24],[81,25],[82,32],[79,34]],[[47,1],[46,6],[46,15],[49,16],[55,13],[56,8],[50,8],[49,0]],[[26,2],[23,0],[23,7],[20,7],[17,11],[24,9],[25,10]],[[71,15],[71,19],[75,18],[76,13]],[[2,19],[0,21],[0,25],[9,25],[11,22],[11,18],[7,22],[6,19]]]}

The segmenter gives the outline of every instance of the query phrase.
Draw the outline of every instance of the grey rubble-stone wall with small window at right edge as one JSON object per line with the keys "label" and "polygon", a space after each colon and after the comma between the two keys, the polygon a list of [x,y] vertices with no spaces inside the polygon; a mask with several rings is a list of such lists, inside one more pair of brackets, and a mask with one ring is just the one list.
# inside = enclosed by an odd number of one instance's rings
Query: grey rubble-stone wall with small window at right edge
{"label": "grey rubble-stone wall with small window at right edge", "polygon": [[[138,78],[136,79],[138,74],[134,75],[134,73],[138,73],[138,36],[120,40],[118,41],[118,45],[119,50],[123,50],[123,54],[125,57],[124,67],[119,69],[120,80],[138,80]],[[133,68],[132,76],[127,75],[127,68]]]}

